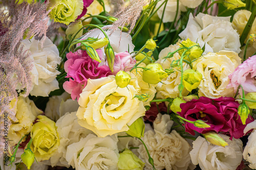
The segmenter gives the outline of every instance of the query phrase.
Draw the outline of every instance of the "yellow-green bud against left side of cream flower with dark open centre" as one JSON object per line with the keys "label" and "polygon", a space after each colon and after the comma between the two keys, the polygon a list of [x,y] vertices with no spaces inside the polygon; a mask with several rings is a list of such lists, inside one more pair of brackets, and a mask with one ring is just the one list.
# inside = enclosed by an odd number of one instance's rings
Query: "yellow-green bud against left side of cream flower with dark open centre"
{"label": "yellow-green bud against left side of cream flower with dark open centre", "polygon": [[200,85],[202,78],[202,74],[193,69],[183,71],[183,85],[188,91],[196,89]]}

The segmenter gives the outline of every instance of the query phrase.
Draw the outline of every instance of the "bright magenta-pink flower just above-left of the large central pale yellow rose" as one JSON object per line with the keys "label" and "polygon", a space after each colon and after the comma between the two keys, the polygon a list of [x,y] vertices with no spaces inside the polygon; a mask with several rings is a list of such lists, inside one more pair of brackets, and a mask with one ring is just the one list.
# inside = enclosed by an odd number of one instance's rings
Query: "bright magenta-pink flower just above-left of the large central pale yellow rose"
{"label": "bright magenta-pink flower just above-left of the large central pale yellow rose", "polygon": [[[96,51],[99,57],[102,58],[102,51]],[[64,68],[67,72],[66,78],[71,79],[63,83],[63,88],[71,94],[73,100],[79,99],[79,94],[84,86],[87,85],[88,79],[98,79],[112,75],[108,66],[98,66],[99,62],[92,60],[86,51],[70,52],[67,54],[67,59]]]}

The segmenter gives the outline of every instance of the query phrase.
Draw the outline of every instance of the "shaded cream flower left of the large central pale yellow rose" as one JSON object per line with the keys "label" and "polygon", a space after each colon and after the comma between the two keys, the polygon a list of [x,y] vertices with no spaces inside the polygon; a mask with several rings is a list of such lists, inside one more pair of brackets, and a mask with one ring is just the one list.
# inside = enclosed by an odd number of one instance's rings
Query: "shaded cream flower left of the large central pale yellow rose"
{"label": "shaded cream flower left of the large central pale yellow rose", "polygon": [[69,93],[63,92],[61,95],[54,95],[49,98],[45,115],[56,121],[67,112],[77,111],[78,107],[77,100],[73,101]]}

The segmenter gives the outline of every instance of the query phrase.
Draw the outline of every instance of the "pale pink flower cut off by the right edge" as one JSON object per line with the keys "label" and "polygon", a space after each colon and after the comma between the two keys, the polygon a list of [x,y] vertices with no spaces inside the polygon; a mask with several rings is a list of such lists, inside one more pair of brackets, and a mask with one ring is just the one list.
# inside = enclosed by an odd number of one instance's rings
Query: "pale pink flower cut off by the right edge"
{"label": "pale pink flower cut off by the right edge", "polygon": [[[230,82],[227,88],[233,87],[235,91],[239,85],[243,86],[245,93],[256,92],[256,56],[249,57],[228,76]],[[242,94],[242,90],[240,90]]]}

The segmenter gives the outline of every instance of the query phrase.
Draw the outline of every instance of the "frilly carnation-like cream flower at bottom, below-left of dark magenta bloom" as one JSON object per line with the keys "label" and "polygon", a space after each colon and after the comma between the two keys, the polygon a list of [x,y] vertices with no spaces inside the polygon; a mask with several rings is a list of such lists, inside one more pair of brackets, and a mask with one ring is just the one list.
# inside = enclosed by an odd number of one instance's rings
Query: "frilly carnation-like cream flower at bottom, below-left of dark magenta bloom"
{"label": "frilly carnation-like cream flower at bottom, below-left of dark magenta bloom", "polygon": [[[188,142],[175,130],[170,132],[173,121],[167,114],[158,114],[154,122],[154,131],[145,132],[142,140],[145,142],[148,152],[154,159],[156,169],[186,170],[191,163]],[[169,133],[170,132],[170,133]],[[145,162],[146,170],[152,169],[148,162],[148,156],[144,146],[139,145],[139,158]]]}

